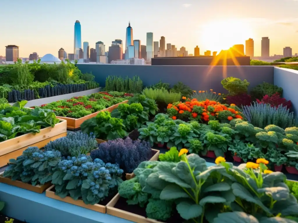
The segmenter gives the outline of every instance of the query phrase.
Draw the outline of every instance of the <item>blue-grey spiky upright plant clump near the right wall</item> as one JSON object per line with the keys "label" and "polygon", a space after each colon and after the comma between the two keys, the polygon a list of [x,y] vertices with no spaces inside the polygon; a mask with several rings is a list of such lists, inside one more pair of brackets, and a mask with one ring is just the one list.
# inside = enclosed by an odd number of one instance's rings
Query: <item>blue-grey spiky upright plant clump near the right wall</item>
{"label": "blue-grey spiky upright plant clump near the right wall", "polygon": [[265,128],[267,125],[277,125],[280,128],[288,128],[297,125],[294,112],[290,112],[282,105],[271,107],[270,104],[256,103],[250,106],[242,106],[243,116],[255,127]]}

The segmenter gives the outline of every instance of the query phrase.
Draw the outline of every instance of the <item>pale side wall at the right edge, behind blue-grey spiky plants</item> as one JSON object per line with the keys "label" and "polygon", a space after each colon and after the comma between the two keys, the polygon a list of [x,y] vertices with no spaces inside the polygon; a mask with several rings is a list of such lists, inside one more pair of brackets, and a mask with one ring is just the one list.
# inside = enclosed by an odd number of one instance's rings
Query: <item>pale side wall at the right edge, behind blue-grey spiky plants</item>
{"label": "pale side wall at the right edge, behind blue-grey spiky plants", "polygon": [[274,67],[274,84],[283,88],[283,98],[292,101],[295,114],[298,112],[298,70]]}

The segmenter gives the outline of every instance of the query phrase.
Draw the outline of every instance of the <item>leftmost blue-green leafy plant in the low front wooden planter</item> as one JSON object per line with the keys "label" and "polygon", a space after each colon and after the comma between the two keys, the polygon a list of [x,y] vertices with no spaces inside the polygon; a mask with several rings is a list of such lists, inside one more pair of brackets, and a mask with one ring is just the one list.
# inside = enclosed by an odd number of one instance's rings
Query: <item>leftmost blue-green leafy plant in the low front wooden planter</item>
{"label": "leftmost blue-green leafy plant in the low front wooden planter", "polygon": [[42,151],[38,147],[28,147],[23,154],[9,160],[3,176],[24,183],[45,184],[52,180],[52,175],[61,161],[59,151]]}

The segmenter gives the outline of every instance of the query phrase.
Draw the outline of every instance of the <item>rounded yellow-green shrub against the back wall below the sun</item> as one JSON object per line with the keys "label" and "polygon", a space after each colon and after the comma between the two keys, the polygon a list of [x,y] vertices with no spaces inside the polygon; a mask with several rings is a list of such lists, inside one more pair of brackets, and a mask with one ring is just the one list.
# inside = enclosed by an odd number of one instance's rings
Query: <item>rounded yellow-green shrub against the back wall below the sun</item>
{"label": "rounded yellow-green shrub against the back wall below the sun", "polygon": [[247,93],[249,82],[247,80],[241,81],[239,78],[228,77],[221,81],[224,89],[229,91],[230,95],[238,95]]}

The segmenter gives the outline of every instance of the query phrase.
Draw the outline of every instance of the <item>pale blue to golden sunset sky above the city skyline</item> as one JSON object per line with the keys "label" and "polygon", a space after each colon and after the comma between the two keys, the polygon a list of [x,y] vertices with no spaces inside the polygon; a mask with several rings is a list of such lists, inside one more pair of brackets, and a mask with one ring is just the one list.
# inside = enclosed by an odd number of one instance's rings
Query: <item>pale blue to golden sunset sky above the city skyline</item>
{"label": "pale blue to golden sunset sky above the city skyline", "polygon": [[[0,55],[5,45],[18,45],[20,57],[37,52],[58,56],[62,47],[73,53],[74,24],[79,20],[82,42],[95,48],[122,39],[131,21],[134,39],[146,45],[146,32],[153,40],[186,47],[193,54],[220,51],[254,39],[254,54],[261,54],[261,37],[270,39],[270,55],[283,54],[290,46],[298,53],[297,0],[15,0],[1,1]],[[83,43],[82,43],[83,45]]]}

